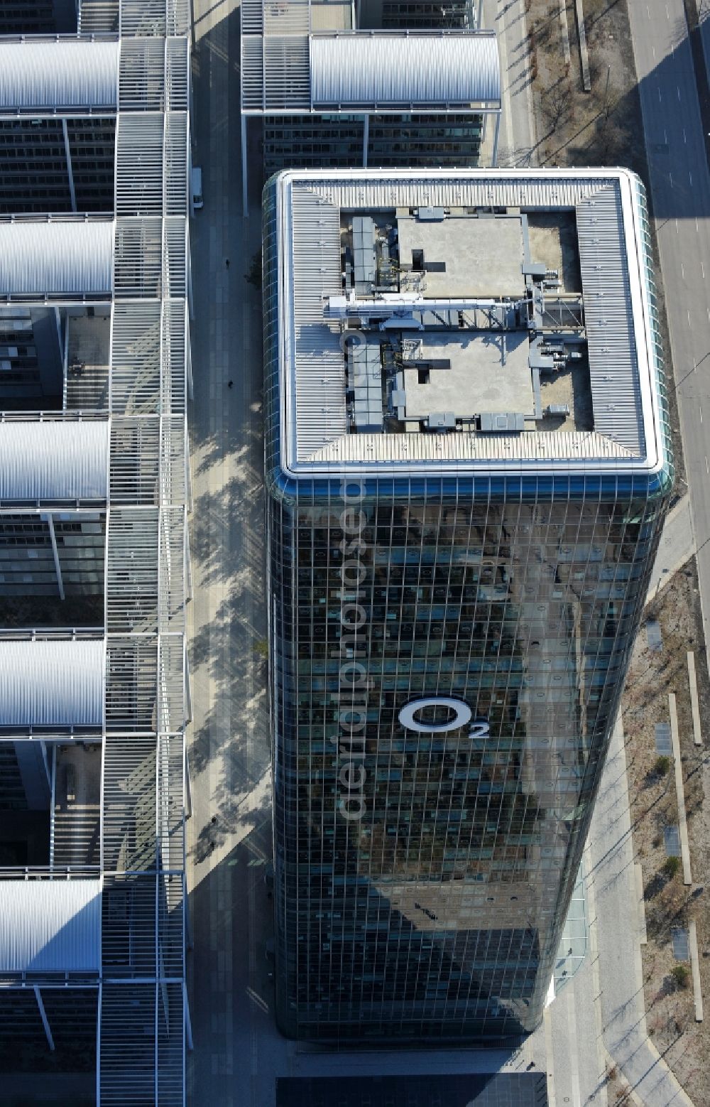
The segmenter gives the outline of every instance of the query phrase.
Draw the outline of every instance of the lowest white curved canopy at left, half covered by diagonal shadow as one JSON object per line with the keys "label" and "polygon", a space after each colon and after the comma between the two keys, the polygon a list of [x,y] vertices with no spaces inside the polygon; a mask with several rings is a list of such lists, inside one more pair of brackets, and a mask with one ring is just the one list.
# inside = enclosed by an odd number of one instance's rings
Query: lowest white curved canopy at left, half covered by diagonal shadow
{"label": "lowest white curved canopy at left, half covered by diagonal shadow", "polygon": [[98,880],[7,880],[0,897],[0,973],[101,968]]}

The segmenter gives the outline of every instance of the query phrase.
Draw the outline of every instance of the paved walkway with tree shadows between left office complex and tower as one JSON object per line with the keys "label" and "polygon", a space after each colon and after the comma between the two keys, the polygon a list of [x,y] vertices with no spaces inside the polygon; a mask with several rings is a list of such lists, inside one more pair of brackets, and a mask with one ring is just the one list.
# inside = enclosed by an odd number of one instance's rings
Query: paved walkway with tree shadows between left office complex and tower
{"label": "paved walkway with tree shadows between left office complex and tower", "polygon": [[271,787],[265,672],[254,649],[267,632],[261,311],[244,273],[261,228],[257,196],[255,217],[241,218],[239,10],[233,0],[195,0],[194,8],[194,161],[202,166],[205,207],[191,224],[188,1088],[196,1105],[257,1107],[269,1101],[255,1073],[258,1025],[269,1018]]}

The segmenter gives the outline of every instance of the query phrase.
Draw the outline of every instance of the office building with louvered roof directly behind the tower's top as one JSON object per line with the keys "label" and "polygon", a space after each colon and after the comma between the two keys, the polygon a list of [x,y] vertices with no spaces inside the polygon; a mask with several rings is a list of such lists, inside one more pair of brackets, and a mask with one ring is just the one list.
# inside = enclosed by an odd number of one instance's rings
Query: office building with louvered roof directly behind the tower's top
{"label": "office building with louvered roof directly behind the tower's top", "polygon": [[[249,121],[263,169],[495,165],[501,73],[470,2],[244,0],[242,167]],[[490,162],[488,161],[490,159]],[[247,179],[243,168],[244,205]]]}

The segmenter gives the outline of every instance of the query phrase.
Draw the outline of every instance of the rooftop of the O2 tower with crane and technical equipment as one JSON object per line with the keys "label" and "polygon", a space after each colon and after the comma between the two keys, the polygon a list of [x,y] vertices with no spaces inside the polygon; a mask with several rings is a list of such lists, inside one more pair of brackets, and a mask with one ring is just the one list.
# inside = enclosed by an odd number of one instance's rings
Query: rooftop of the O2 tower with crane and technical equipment
{"label": "rooftop of the O2 tower with crane and technical equipment", "polygon": [[293,170],[275,192],[286,470],[667,464],[634,174]]}

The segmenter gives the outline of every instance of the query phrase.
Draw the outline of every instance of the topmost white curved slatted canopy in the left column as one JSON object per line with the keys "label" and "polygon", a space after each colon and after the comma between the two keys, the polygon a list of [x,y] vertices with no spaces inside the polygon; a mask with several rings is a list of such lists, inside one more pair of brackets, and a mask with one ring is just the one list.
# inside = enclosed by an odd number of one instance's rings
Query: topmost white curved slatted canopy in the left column
{"label": "topmost white curved slatted canopy in the left column", "polygon": [[0,111],[115,108],[119,43],[0,41]]}

